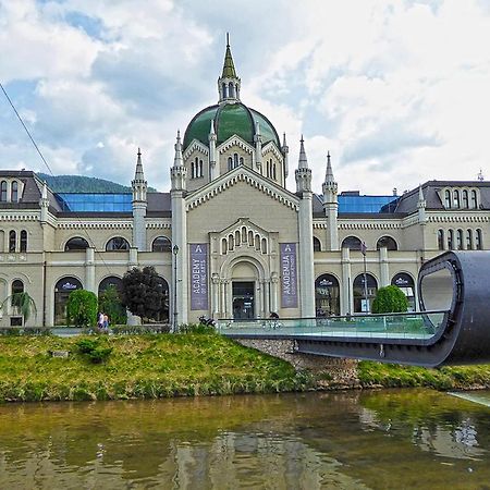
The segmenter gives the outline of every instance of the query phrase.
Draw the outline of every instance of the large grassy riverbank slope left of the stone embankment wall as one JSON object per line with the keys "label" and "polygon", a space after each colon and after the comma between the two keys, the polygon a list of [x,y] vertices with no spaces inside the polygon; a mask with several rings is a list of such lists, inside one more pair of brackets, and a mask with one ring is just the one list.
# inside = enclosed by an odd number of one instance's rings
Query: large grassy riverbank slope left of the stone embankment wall
{"label": "large grassy riverbank slope left of the stone embankment wall", "polygon": [[94,338],[1,336],[0,403],[270,393],[314,382],[220,335],[102,335],[98,350],[110,354],[99,364],[79,352],[82,339]]}

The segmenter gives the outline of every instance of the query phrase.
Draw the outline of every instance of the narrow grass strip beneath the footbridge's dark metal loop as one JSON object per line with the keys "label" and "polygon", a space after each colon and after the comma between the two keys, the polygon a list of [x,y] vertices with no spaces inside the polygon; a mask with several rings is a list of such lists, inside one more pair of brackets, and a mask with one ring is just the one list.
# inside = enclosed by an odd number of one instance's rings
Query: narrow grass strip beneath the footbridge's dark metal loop
{"label": "narrow grass strip beneath the footbridge's dark metal loop", "polygon": [[357,366],[357,376],[364,388],[490,389],[489,365],[426,369],[363,360]]}

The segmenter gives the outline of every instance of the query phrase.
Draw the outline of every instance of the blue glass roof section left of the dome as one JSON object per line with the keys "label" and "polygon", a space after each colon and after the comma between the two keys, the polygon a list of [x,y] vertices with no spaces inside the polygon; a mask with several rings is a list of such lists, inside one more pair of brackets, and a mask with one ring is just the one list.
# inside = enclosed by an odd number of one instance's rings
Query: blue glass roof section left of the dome
{"label": "blue glass roof section left of the dome", "polygon": [[131,212],[133,195],[96,193],[54,194],[62,211],[72,212]]}

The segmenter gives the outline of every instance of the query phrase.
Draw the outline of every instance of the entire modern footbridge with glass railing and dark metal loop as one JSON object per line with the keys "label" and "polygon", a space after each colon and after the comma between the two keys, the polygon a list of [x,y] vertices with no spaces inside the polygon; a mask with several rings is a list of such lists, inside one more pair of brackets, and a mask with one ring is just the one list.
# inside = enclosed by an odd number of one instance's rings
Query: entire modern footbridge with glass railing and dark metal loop
{"label": "entire modern footbridge with glass railing and dark metal loop", "polygon": [[295,351],[425,367],[490,363],[490,252],[446,252],[418,275],[419,311],[219,320],[236,339],[289,339]]}

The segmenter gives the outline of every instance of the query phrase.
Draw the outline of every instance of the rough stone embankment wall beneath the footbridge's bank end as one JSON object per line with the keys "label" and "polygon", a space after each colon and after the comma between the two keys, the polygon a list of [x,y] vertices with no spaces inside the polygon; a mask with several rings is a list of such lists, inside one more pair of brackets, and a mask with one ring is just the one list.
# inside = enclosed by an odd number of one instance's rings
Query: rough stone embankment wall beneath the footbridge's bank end
{"label": "rough stone embankment wall beneath the footbridge's bank end", "polygon": [[320,389],[360,388],[355,359],[298,353],[295,341],[289,339],[235,339],[235,341],[246,347],[287,360],[297,371],[313,372]]}

